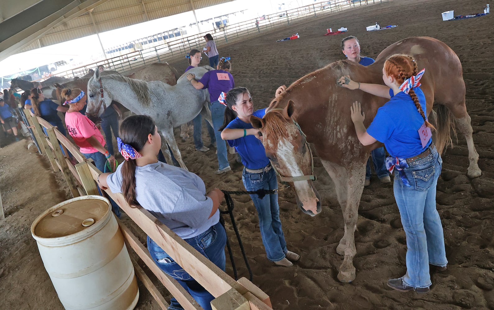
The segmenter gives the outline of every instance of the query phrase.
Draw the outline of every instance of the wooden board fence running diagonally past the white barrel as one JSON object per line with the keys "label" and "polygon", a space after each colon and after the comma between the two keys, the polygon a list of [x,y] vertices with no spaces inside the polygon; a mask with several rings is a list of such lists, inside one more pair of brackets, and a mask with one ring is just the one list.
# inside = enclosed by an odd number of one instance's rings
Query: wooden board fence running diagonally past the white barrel
{"label": "wooden board fence running diagonally past the white barrel", "polygon": [[[28,126],[33,129],[40,144],[40,152],[47,155],[54,172],[63,173],[72,195],[74,197],[99,195],[95,181],[101,171],[92,164],[92,160],[85,159],[78,147],[62,135],[56,127],[41,117],[32,116],[29,109],[25,109],[24,113],[29,123]],[[72,154],[72,161],[75,159],[78,162],[76,165],[69,160],[67,156],[69,152]],[[211,302],[213,310],[272,310],[269,296],[247,278],[242,277],[236,281],[168,229],[149,211],[142,207],[130,207],[122,194],[114,194],[109,190],[105,192],[146,235],[158,243],[187,273],[215,297]],[[118,222],[129,254],[132,249],[184,309],[202,310],[203,308],[175,279],[166,275],[154,263],[146,246],[131,230],[120,220]],[[153,281],[132,255],[130,257],[136,276],[149,290],[161,309],[167,309],[168,304]]]}

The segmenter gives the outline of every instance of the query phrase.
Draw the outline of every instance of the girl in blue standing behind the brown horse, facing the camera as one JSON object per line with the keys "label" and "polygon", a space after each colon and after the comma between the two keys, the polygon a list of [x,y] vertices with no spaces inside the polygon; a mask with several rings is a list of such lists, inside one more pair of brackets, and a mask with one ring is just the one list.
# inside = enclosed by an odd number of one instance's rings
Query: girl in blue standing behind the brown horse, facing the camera
{"label": "girl in blue standing behind the brown horse, facing the camera", "polygon": [[[360,42],[355,36],[347,36],[341,40],[341,51],[347,59],[351,62],[358,63],[362,66],[369,66],[374,63],[371,57],[360,56]],[[384,147],[378,147],[371,151],[372,163],[374,164],[374,171],[381,183],[391,182],[389,177],[389,172],[386,169],[386,153],[384,152]],[[371,184],[371,158],[367,159],[366,165],[366,179],[364,181],[364,186],[369,186]]]}

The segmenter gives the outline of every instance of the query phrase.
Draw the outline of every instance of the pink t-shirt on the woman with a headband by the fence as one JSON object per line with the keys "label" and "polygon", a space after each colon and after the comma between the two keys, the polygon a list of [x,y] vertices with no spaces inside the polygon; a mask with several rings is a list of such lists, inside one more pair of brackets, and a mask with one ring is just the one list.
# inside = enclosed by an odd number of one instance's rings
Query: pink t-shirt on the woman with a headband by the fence
{"label": "pink t-shirt on the woman with a headband by the fence", "polygon": [[105,146],[105,139],[99,132],[96,125],[87,116],[82,115],[79,112],[65,113],[65,124],[67,125],[67,131],[69,135],[74,139],[77,146],[80,147],[81,153],[90,154],[98,152],[97,149],[87,141],[87,138],[91,136]]}

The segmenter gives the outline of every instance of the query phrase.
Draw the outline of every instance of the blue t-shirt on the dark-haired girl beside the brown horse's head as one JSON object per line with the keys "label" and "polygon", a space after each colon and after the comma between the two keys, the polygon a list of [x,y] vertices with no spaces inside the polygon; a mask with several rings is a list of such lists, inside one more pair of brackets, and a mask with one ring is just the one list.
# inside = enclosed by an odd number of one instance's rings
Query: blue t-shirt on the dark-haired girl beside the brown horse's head
{"label": "blue t-shirt on the dark-haired girl beside the brown horse's head", "polygon": [[[260,109],[252,113],[257,117],[263,117],[266,109]],[[251,129],[250,123],[245,123],[240,118],[236,118],[230,122],[225,128],[230,129]],[[266,150],[262,145],[261,140],[252,135],[237,138],[235,140],[227,140],[228,144],[235,147],[237,152],[242,157],[242,164],[248,169],[261,169],[269,164],[269,159],[266,157]]]}

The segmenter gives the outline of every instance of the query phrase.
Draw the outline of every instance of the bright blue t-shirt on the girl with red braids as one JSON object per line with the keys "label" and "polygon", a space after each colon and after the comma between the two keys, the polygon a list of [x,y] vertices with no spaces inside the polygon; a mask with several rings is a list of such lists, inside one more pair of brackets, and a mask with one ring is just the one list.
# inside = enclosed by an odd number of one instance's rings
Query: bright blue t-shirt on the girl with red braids
{"label": "bright blue t-shirt on the girl with red braids", "polygon": [[[413,88],[425,115],[425,96],[420,87]],[[399,92],[393,96],[389,90],[390,101],[377,109],[367,133],[379,142],[384,143],[386,150],[393,157],[410,158],[425,149],[422,147],[418,129],[424,124],[424,119],[417,111],[410,95]],[[430,140],[426,147],[431,143]]]}

